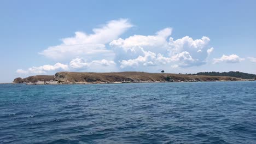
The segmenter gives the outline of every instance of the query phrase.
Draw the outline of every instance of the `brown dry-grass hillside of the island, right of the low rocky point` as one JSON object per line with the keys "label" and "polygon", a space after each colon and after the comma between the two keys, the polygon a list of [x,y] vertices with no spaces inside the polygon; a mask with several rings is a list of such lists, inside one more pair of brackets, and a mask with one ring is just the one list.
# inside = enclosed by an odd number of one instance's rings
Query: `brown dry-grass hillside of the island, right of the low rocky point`
{"label": "brown dry-grass hillside of the island, right of the low rocky point", "polygon": [[166,81],[170,77],[173,81],[240,81],[235,77],[227,76],[203,76],[203,75],[183,75],[183,74],[160,74],[144,72],[120,72],[120,73],[75,73],[60,72],[56,73],[56,79],[62,82],[158,82]]}

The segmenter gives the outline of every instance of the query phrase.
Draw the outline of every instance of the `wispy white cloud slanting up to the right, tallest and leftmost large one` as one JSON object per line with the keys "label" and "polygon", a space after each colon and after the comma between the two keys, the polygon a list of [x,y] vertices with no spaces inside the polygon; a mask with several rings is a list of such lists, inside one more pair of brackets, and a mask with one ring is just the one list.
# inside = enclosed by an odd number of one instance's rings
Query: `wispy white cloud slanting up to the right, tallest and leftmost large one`
{"label": "wispy white cloud slanting up to the right, tallest and leftmost large one", "polygon": [[87,59],[114,57],[113,51],[108,50],[105,44],[117,39],[130,27],[132,25],[127,19],[112,20],[100,28],[92,29],[93,34],[75,32],[74,37],[62,39],[62,44],[48,47],[40,54],[59,60],[78,56]]}

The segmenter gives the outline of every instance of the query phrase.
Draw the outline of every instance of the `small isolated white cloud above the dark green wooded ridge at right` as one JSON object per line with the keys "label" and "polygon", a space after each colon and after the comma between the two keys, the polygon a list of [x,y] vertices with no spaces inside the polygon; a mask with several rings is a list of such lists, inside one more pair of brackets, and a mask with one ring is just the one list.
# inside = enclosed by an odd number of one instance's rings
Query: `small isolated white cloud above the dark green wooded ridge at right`
{"label": "small isolated white cloud above the dark green wooded ridge at right", "polygon": [[220,62],[226,62],[226,63],[238,63],[238,62],[241,62],[245,60],[244,58],[240,58],[239,56],[237,55],[229,55],[229,56],[226,56],[226,55],[223,55],[222,57],[220,58],[214,58],[213,59],[213,63],[220,63]]}

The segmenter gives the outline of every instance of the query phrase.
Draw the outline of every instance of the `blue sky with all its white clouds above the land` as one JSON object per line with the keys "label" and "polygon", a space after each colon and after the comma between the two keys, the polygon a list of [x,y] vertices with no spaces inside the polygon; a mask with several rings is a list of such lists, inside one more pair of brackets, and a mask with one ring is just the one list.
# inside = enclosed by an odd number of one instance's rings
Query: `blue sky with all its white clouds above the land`
{"label": "blue sky with all its white clouds above the land", "polygon": [[0,1],[0,82],[57,71],[256,74],[256,1]]}

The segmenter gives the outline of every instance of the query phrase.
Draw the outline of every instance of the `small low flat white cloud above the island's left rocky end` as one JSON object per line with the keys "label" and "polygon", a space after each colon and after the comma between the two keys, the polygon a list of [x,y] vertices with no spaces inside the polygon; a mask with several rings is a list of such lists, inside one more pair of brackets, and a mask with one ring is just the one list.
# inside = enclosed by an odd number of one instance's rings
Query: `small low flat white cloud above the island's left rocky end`
{"label": "small low flat white cloud above the island's left rocky end", "polygon": [[55,70],[68,70],[67,64],[56,63],[54,65],[43,65],[40,67],[32,67],[27,70],[18,69],[16,73],[18,74],[45,74],[46,71],[55,71]]}

